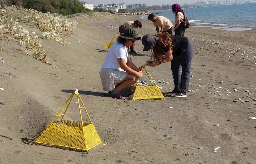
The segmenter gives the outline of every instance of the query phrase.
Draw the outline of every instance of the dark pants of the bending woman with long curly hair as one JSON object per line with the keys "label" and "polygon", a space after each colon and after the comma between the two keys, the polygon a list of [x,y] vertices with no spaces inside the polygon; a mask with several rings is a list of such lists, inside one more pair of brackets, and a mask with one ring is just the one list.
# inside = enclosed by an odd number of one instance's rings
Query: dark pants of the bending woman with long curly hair
{"label": "dark pants of the bending woman with long curly hair", "polygon": [[[173,55],[171,70],[175,91],[188,92],[193,51],[193,43],[188,39],[187,47],[181,52],[176,51],[175,55]],[[182,67],[182,74],[180,72],[180,65]]]}

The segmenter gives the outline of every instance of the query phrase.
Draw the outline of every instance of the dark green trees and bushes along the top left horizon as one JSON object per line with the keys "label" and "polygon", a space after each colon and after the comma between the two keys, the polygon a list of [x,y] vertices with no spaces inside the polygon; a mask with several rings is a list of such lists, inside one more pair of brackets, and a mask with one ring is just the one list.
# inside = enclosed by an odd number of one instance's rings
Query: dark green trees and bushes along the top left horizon
{"label": "dark green trees and bushes along the top left horizon", "polygon": [[70,15],[76,13],[86,13],[90,15],[91,12],[110,12],[104,9],[95,8],[89,10],[78,0],[0,0],[1,5],[16,5],[23,6],[28,9],[35,9],[42,13],[59,13],[62,15]]}

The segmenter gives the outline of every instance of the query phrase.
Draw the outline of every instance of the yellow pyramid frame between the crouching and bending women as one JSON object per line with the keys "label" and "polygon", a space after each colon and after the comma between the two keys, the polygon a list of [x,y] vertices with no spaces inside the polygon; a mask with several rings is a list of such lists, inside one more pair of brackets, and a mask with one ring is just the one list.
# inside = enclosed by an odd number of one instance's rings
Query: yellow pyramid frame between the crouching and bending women
{"label": "yellow pyramid frame between the crouching and bending women", "polygon": [[[151,86],[138,86],[139,80],[137,81],[136,86],[133,84],[130,92],[134,92],[132,100],[141,100],[141,99],[161,99],[164,98],[160,89],[157,87],[154,79],[149,74],[145,66],[142,67],[142,71],[145,70],[149,78]],[[152,83],[153,82],[153,83]],[[154,85],[153,85],[154,84]]]}

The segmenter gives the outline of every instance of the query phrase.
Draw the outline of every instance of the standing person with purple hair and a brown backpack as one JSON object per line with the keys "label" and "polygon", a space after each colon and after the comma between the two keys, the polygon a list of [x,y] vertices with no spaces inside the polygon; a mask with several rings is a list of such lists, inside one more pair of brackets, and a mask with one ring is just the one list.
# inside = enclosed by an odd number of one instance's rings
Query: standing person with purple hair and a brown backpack
{"label": "standing person with purple hair and a brown backpack", "polygon": [[179,4],[172,5],[171,9],[172,9],[172,12],[175,13],[175,26],[173,31],[175,32],[175,35],[184,36],[184,33],[185,33],[185,27],[183,23],[185,19],[184,12],[181,9]]}

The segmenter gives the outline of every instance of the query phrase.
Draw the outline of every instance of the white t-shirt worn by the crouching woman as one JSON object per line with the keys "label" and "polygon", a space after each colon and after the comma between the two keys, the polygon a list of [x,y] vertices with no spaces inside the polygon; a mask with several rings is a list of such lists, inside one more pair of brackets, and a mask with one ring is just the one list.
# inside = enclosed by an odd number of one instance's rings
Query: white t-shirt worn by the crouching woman
{"label": "white t-shirt worn by the crouching woman", "polygon": [[128,52],[126,46],[115,42],[113,46],[109,49],[105,61],[102,65],[102,68],[113,68],[120,70],[121,67],[118,63],[117,58],[125,59],[125,63],[127,62]]}

